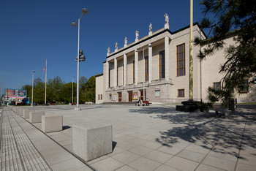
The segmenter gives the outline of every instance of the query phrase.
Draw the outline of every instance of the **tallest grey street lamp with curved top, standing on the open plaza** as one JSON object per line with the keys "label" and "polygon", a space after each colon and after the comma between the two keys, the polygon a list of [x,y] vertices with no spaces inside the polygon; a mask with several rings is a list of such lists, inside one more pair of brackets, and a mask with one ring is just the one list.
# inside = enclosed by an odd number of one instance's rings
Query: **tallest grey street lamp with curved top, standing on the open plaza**
{"label": "tallest grey street lamp with curved top, standing on the open plaza", "polygon": [[89,11],[85,8],[82,9],[83,14],[78,18],[78,20],[75,23],[71,23],[72,26],[77,26],[78,23],[78,84],[77,84],[77,105],[75,110],[81,110],[79,108],[79,62],[80,62],[80,56],[79,56],[79,39],[80,39],[80,19],[83,17],[83,15],[88,14]]}

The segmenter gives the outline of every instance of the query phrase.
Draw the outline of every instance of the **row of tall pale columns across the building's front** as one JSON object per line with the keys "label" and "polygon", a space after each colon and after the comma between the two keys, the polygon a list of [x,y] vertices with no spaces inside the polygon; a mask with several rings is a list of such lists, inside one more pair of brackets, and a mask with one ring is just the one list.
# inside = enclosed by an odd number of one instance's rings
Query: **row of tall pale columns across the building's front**
{"label": "row of tall pale columns across the building's front", "polygon": [[[152,81],[152,45],[148,45],[148,83]],[[139,51],[135,50],[135,85],[138,84],[138,56]],[[145,56],[144,56],[145,58]],[[144,63],[145,64],[145,63]],[[145,71],[143,71],[145,72]],[[109,61],[106,61],[106,88],[109,87]],[[117,58],[114,58],[114,88],[117,86]],[[144,78],[143,78],[144,79]],[[165,80],[169,80],[169,37],[165,37]],[[124,53],[124,85],[127,86],[127,54]]]}

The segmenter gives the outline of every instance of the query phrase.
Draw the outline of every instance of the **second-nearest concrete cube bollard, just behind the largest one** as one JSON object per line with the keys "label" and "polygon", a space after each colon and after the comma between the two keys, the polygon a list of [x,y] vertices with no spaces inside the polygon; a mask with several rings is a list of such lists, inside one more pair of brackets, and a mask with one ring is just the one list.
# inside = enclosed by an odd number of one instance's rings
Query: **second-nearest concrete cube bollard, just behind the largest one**
{"label": "second-nearest concrete cube bollard, just behind the largest one", "polygon": [[55,114],[42,115],[42,132],[62,131],[63,116]]}

